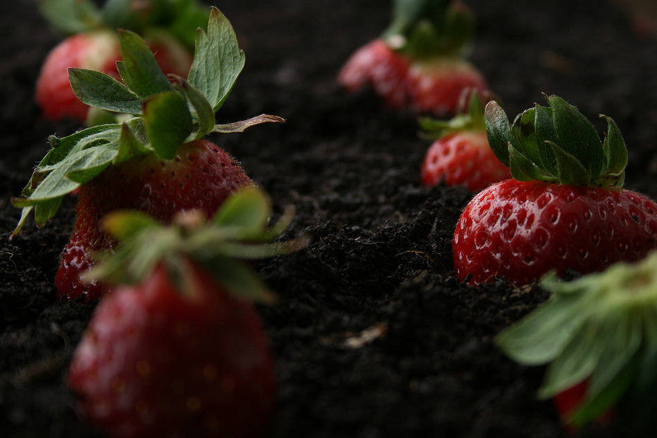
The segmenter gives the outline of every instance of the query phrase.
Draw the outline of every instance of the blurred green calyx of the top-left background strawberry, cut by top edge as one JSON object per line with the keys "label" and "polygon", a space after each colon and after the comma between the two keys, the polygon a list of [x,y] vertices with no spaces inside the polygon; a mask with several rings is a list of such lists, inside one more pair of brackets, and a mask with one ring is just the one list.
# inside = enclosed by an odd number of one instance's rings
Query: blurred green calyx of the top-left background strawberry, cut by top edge
{"label": "blurred green calyx of the top-left background strawberry, cut by top edge", "polygon": [[196,0],[39,0],[39,11],[51,26],[66,35],[100,28],[128,29],[144,35],[166,29],[189,48],[194,30],[207,24],[207,8]]}

